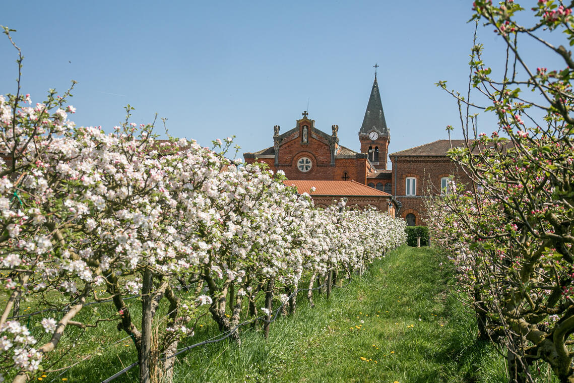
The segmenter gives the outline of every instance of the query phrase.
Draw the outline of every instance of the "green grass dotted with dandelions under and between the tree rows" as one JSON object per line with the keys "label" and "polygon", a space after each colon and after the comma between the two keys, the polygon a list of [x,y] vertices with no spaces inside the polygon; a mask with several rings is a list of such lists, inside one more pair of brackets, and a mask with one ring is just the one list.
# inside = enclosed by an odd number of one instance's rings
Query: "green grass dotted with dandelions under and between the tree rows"
{"label": "green grass dotted with dandelions under and between the tree rows", "polygon": [[[476,340],[474,318],[448,293],[441,261],[432,248],[402,246],[329,300],[317,293],[314,308],[300,293],[297,313],[272,323],[267,341],[260,328],[245,328],[241,346],[223,341],[181,355],[174,382],[506,382],[504,359]],[[117,342],[125,334],[114,324],[76,345],[68,336],[63,365],[76,351],[102,355],[44,381],[100,382],[135,361],[133,344]],[[201,324],[193,343],[219,332],[207,316]],[[137,368],[114,382],[137,382]]]}

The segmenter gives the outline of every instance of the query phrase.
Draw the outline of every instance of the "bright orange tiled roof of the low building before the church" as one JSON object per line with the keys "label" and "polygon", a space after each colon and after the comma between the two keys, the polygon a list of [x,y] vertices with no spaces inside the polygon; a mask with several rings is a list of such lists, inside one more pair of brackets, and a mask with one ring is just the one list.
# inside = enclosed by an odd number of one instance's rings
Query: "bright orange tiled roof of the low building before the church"
{"label": "bright orange tiled roof of the low building before the church", "polygon": [[[357,181],[297,181],[286,180],[283,183],[287,186],[297,187],[299,194],[307,193],[310,195],[338,195],[338,196],[390,196],[389,193],[371,188]],[[311,192],[311,187],[315,191]]]}

